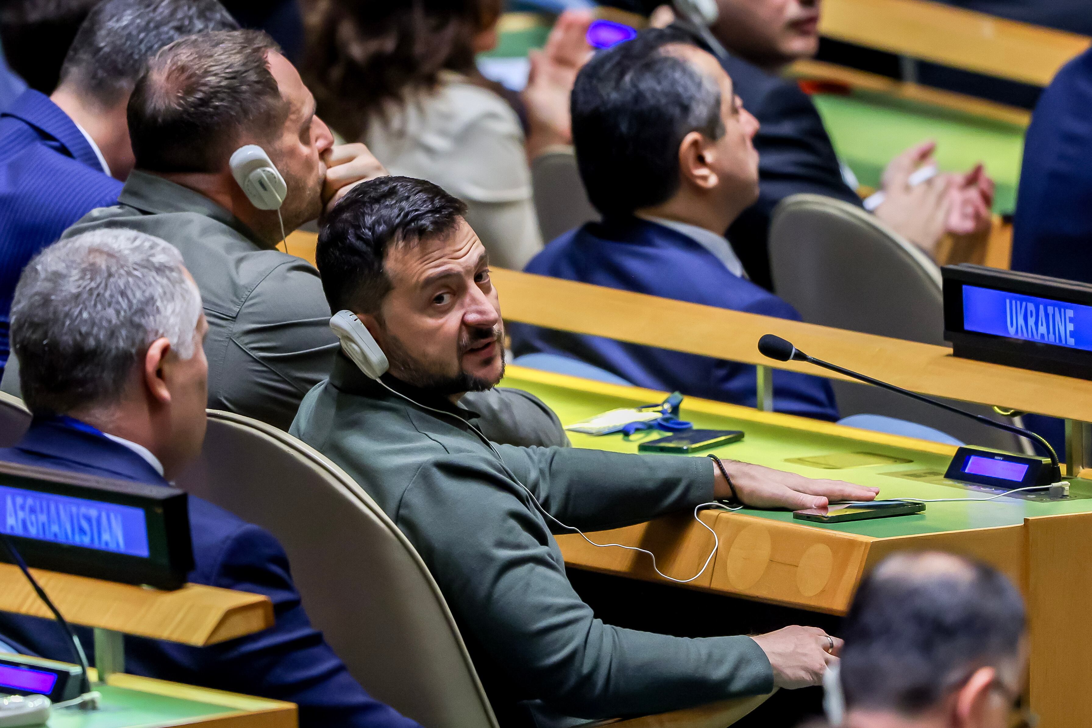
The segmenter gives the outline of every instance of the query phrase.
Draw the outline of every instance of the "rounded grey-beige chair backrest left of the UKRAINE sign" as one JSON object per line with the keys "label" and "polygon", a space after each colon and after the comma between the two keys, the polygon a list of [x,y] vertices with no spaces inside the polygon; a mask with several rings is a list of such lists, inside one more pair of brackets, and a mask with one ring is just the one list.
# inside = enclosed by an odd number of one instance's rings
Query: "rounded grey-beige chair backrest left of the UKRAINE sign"
{"label": "rounded grey-beige chair backrest left of the UKRAINE sign", "polygon": [[[859,207],[818,194],[786,198],[770,223],[770,266],[778,295],[808,323],[947,345],[940,268]],[[1016,435],[879,387],[832,384],[843,416],[897,417],[963,442],[1026,450]],[[1006,421],[989,407],[964,408]]]}

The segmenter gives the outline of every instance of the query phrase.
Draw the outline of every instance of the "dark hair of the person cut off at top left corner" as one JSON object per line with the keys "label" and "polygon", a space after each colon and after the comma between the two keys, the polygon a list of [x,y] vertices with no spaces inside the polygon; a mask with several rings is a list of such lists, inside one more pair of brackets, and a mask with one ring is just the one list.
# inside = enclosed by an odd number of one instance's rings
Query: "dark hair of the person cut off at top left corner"
{"label": "dark hair of the person cut off at top left corner", "polygon": [[3,0],[0,41],[8,65],[26,84],[51,94],[64,56],[87,13],[100,0]]}

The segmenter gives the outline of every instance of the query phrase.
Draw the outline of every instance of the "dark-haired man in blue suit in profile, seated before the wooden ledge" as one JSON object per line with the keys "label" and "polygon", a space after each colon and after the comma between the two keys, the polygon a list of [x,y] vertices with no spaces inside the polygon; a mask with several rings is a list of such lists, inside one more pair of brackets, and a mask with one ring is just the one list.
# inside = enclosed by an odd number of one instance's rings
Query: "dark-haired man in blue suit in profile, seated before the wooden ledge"
{"label": "dark-haired man in blue suit in profile, seated before the wooden ledge", "polygon": [[[603,223],[554,240],[526,271],[798,321],[747,279],[723,236],[758,196],[758,127],[716,59],[680,31],[601,53],[577,76],[572,136]],[[640,386],[756,404],[752,366],[525,324],[511,334],[517,355],[569,355]],[[826,380],[779,371],[774,396],[778,411],[838,418]]]}

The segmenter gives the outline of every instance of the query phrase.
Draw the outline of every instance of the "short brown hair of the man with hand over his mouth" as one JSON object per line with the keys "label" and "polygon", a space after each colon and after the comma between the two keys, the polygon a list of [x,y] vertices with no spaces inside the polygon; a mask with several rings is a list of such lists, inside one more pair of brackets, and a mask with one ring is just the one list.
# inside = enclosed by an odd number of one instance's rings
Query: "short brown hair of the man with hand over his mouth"
{"label": "short brown hair of the man with hand over his mouth", "polygon": [[129,99],[136,167],[216,171],[244,129],[275,134],[288,115],[266,60],[278,50],[260,31],[222,31],[176,40],[156,53]]}

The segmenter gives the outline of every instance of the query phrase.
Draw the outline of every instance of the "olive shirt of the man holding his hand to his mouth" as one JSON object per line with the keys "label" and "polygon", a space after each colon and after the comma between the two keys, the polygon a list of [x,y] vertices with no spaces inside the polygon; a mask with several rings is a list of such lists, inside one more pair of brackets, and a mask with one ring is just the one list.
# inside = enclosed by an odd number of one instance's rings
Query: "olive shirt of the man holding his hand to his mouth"
{"label": "olive shirt of the man holding his hand to his mouth", "polygon": [[[209,407],[286,430],[304,395],[330,374],[339,348],[319,272],[203,194],[140,170],[129,175],[117,205],[93,210],[63,237],[102,228],[147,232],[181,252],[209,320]],[[568,444],[557,416],[526,392],[467,401],[499,441]]]}

